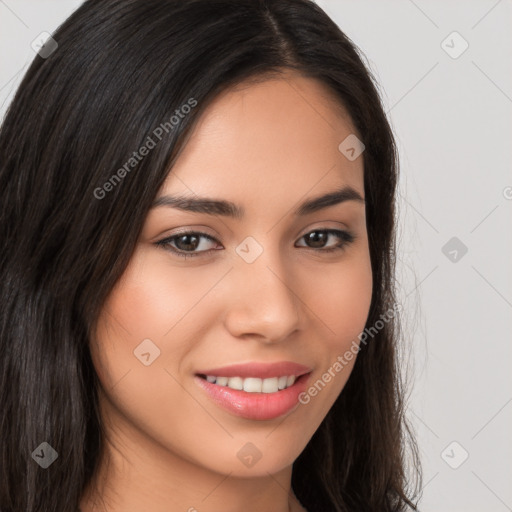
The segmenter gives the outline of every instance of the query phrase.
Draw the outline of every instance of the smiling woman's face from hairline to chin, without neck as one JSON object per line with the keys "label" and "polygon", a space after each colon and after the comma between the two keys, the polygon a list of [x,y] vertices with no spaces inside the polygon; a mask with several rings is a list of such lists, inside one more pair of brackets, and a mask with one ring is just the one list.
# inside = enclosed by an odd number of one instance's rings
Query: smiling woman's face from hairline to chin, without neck
{"label": "smiling woman's face from hairline to chin, without neck", "polygon": [[339,361],[371,302],[364,154],[338,149],[355,133],[324,85],[295,74],[208,107],[91,343],[119,437],[243,477],[299,456],[350,375],[355,357]]}

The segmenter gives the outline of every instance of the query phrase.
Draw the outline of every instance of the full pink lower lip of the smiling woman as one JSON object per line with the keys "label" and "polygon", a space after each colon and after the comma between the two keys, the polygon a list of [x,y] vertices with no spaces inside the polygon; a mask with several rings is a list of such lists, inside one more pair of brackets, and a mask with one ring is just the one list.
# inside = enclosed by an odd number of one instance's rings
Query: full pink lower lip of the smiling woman
{"label": "full pink lower lip of the smiling woman", "polygon": [[301,375],[289,388],[276,393],[248,393],[212,384],[197,375],[197,384],[219,406],[249,420],[271,420],[291,411],[305,391],[309,373]]}

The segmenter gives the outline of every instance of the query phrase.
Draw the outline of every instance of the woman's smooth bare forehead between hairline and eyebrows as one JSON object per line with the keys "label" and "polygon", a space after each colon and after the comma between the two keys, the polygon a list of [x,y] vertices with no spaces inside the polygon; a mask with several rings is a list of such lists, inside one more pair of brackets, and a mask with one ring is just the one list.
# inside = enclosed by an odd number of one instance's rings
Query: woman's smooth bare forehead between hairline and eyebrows
{"label": "woman's smooth bare forehead between hairline and eyebrows", "polygon": [[[350,185],[364,196],[363,155],[338,149],[357,133],[323,83],[294,73],[222,92],[205,109],[162,193],[259,204]],[[310,195],[311,195],[310,194]]]}

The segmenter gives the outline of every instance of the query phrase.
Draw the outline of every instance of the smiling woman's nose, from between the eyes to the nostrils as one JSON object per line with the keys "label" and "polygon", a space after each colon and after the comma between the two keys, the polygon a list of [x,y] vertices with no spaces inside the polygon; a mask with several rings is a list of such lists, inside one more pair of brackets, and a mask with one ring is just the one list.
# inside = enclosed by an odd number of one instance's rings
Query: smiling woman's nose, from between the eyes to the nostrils
{"label": "smiling woman's nose, from between the eyes to the nostrils", "polygon": [[225,326],[232,336],[276,343],[299,329],[302,301],[286,267],[278,250],[265,249],[253,263],[235,259],[225,283],[230,295]]}

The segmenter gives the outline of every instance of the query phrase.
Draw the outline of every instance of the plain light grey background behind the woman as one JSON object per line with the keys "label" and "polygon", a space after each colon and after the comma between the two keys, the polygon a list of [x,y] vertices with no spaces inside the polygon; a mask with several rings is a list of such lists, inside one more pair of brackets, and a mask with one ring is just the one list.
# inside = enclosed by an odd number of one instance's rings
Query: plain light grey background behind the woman
{"label": "plain light grey background behind the woman", "polygon": [[[420,508],[512,510],[512,1],[317,3],[368,58],[399,144]],[[80,4],[0,0],[2,117],[31,42]]]}

